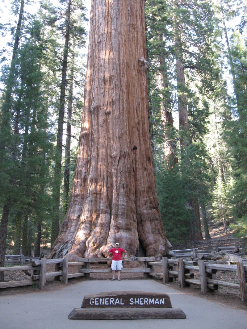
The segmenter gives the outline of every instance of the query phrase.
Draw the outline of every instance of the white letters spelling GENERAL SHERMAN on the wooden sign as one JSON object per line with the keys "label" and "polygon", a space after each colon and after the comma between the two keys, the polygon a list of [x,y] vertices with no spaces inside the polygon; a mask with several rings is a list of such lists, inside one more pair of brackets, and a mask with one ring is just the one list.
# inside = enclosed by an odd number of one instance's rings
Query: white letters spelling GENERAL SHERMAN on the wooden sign
{"label": "white letters spelling GENERAL SHERMAN on the wooden sign", "polygon": [[[130,305],[165,305],[165,298],[136,297],[129,299]],[[90,298],[90,305],[124,305],[122,298]]]}

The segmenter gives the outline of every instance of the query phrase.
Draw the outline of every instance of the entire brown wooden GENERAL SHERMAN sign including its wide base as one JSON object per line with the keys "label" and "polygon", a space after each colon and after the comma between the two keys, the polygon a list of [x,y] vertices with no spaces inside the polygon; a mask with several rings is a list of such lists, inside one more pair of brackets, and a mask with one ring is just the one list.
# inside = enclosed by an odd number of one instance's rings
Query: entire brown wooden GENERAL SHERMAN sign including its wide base
{"label": "entire brown wooden GENERAL SHERMAN sign including its wide base", "polygon": [[70,320],[184,319],[179,308],[172,307],[165,293],[146,291],[110,291],[84,297],[81,308],[74,308]]}

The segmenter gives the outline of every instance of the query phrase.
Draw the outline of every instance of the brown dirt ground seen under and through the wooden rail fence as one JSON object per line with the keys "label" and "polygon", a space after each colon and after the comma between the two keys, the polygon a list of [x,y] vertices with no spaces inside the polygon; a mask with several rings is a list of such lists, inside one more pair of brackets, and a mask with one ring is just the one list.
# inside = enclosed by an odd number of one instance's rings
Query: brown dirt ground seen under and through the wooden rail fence
{"label": "brown dirt ground seen under and through the wooden rail fence", "polygon": [[[236,239],[233,237],[233,232],[229,232],[228,234],[225,234],[223,227],[219,228],[211,228],[210,229],[210,235],[211,239],[210,240],[201,240],[197,241],[196,243],[196,248],[206,248],[207,246],[215,246],[215,245],[228,245],[228,244],[233,244],[233,243],[243,243],[242,239]],[[193,241],[187,242],[187,246],[189,248],[193,248]],[[184,245],[179,245],[174,247],[174,249],[184,249]],[[245,250],[243,250],[246,252]],[[47,251],[48,252],[48,251]],[[247,252],[246,252],[247,253]],[[246,256],[245,256],[246,257]],[[99,268],[99,265],[97,264],[92,264],[92,268]],[[100,265],[101,268],[109,268],[106,263]],[[124,265],[124,267],[128,267],[127,264]],[[140,265],[140,267],[142,267]],[[49,265],[47,266],[47,272],[53,272],[54,271],[54,265]],[[162,269],[160,267],[156,267],[155,269],[156,272],[162,272]],[[69,273],[76,273],[77,272],[77,267],[70,267],[69,268]],[[18,272],[5,272],[5,281],[17,281],[17,280],[25,280],[29,279],[30,276],[27,276],[24,272],[18,271]],[[199,273],[194,272],[195,279],[199,278]],[[236,276],[235,272],[230,272],[230,271],[217,271],[217,279],[227,281],[227,282],[232,282],[232,283],[238,283],[238,277]],[[90,279],[81,277],[81,278],[73,278],[69,279],[68,284],[74,284],[80,281],[84,280],[110,280],[112,278],[111,273],[91,273]],[[143,278],[144,280],[144,285],[148,285],[148,280],[152,280],[150,278],[144,278],[143,273],[122,273],[121,274],[121,280],[133,280],[133,279],[141,279]],[[162,279],[155,279],[156,281],[163,283]],[[54,281],[54,278],[47,278],[46,280],[46,285],[45,285],[45,290],[59,290],[61,288],[61,282],[59,281]],[[181,290],[178,287],[178,280],[169,282],[167,284],[169,287],[176,289],[176,290]],[[1,295],[8,295],[8,294],[19,294],[19,293],[26,293],[26,292],[33,292],[37,291],[39,292],[38,285],[34,286],[26,286],[26,287],[16,287],[16,288],[6,288],[6,289],[1,289],[0,290],[0,296]],[[211,301],[215,301],[217,303],[221,303],[224,305],[228,305],[230,307],[240,309],[243,311],[247,312],[247,307],[241,304],[241,297],[240,297],[240,291],[231,289],[231,288],[225,288],[225,287],[220,287],[217,291],[214,291],[213,293],[208,293],[206,295],[202,295],[201,289],[198,286],[190,285],[190,287],[186,287],[182,289],[182,292],[186,294],[191,294],[191,295],[196,295],[201,298],[209,299]]]}

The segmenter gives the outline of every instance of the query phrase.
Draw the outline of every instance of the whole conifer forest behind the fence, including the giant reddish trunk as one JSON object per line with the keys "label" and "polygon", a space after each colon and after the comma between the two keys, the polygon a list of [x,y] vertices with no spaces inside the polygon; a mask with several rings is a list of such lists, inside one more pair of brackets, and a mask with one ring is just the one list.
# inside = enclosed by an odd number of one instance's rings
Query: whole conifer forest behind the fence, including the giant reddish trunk
{"label": "whole conifer forest behind the fence, including the giant reddish trunk", "polygon": [[[54,245],[53,257],[102,257],[116,237],[132,255],[166,244],[162,256],[210,239],[212,221],[246,237],[247,1],[90,8],[1,0],[0,266],[10,245],[27,256]],[[137,110],[125,111],[131,102]],[[72,230],[79,216],[86,228]]]}

